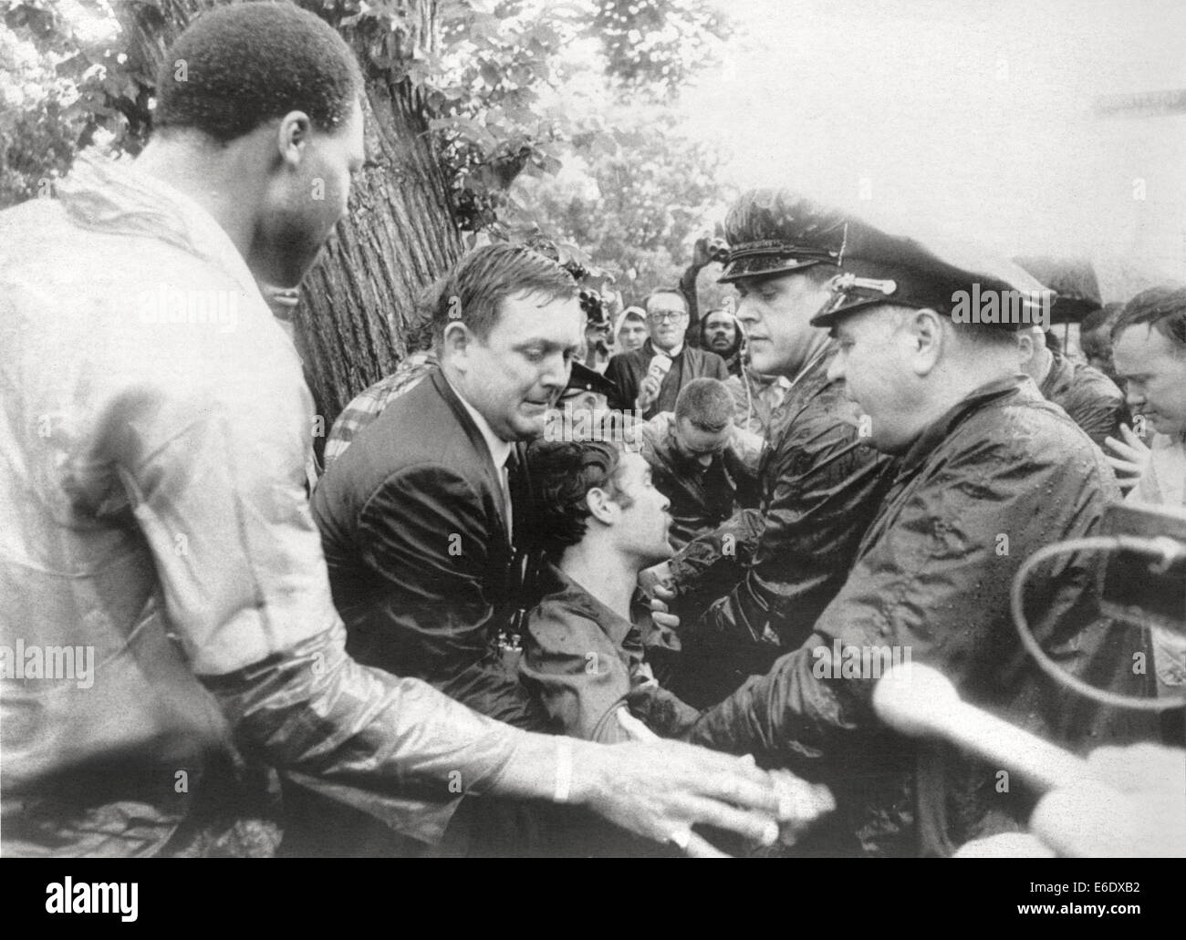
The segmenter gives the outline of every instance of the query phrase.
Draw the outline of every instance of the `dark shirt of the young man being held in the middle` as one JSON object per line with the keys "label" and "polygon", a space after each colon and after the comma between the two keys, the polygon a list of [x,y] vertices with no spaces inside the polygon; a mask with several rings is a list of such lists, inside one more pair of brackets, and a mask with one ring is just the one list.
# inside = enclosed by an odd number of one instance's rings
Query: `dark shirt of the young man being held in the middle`
{"label": "dark shirt of the young man being held in the middle", "polygon": [[637,627],[553,564],[543,590],[524,621],[519,672],[557,731],[605,744],[629,741],[616,717],[620,708],[661,736],[695,721],[695,709],[655,682]]}

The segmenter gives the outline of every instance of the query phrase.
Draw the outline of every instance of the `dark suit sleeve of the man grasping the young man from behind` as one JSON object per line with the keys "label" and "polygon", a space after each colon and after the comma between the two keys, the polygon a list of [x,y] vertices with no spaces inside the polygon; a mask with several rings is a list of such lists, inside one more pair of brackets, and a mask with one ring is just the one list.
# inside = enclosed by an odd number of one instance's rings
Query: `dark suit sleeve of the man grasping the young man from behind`
{"label": "dark suit sleeve of the man grasping the young man from behind", "polygon": [[[489,504],[489,505],[487,505]],[[385,588],[372,637],[378,661],[417,661],[445,691],[484,715],[525,728],[540,714],[511,669],[492,661],[499,559],[496,509],[455,471],[420,465],[389,477],[358,520],[362,557]]]}

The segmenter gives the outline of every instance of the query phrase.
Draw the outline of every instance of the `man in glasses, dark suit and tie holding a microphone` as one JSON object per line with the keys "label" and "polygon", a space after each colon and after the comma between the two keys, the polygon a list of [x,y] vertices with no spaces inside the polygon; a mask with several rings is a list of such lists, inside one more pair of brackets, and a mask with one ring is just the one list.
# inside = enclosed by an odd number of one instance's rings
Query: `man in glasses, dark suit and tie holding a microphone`
{"label": "man in glasses, dark suit and tie holding a microphone", "polygon": [[[728,366],[715,352],[694,350],[684,343],[688,333],[688,301],[676,289],[656,290],[646,298],[650,339],[633,352],[610,360],[605,377],[619,389],[610,407],[639,409],[650,420],[659,411],[674,411],[680,389],[694,378],[729,377]],[[657,365],[662,363],[663,367]]]}

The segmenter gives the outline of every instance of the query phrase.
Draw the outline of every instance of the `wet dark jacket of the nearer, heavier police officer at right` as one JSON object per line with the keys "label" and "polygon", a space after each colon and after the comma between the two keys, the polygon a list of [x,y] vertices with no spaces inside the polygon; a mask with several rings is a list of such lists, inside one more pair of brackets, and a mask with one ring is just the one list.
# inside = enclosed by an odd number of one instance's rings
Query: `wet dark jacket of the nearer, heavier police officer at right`
{"label": "wet dark jacket of the nearer, heavier police officer at right", "polygon": [[[1093,533],[1117,495],[1099,449],[1032,383],[983,386],[904,455],[815,634],[707,712],[690,740],[828,778],[871,852],[949,855],[1024,825],[1031,797],[1016,782],[1002,792],[1003,768],[881,727],[871,706],[878,673],[836,674],[834,642],[908,651],[971,703],[1066,747],[1147,736],[1144,718],[1057,688],[1028,660],[1009,613],[1021,562]],[[1096,686],[1140,692],[1144,677],[1131,666],[1143,639],[1134,629],[1109,632],[1097,616],[1097,561],[1052,562],[1027,594],[1029,624],[1064,669]]]}

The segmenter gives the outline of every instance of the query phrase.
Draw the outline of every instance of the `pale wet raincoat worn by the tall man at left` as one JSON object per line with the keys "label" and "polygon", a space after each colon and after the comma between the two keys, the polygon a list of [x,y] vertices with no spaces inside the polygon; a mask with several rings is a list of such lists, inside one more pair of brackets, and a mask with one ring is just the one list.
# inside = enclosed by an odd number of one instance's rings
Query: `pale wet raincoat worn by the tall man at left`
{"label": "pale wet raincoat worn by the tall man at left", "polygon": [[158,852],[231,742],[436,838],[449,770],[480,788],[516,733],[345,658],[312,399],[242,257],[134,165],[58,192],[0,213],[0,644],[94,673],[5,670],[5,851]]}

